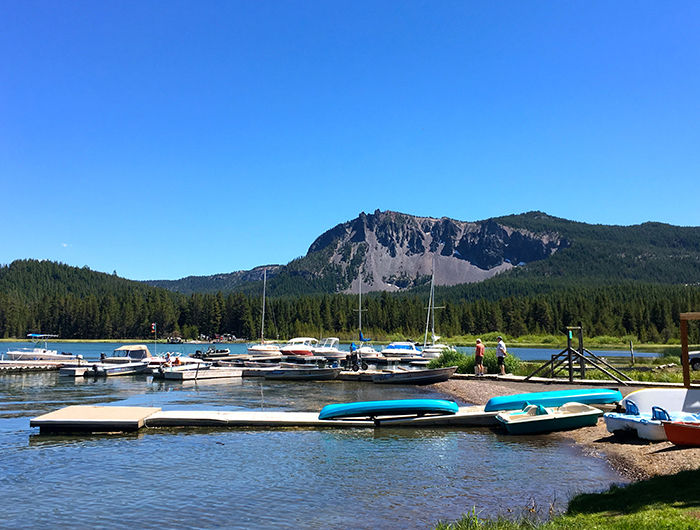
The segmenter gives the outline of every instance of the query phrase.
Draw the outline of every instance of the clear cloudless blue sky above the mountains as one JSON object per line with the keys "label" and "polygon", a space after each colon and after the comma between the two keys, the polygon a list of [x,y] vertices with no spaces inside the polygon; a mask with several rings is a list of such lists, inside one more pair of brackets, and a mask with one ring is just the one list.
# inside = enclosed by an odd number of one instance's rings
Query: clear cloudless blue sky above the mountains
{"label": "clear cloudless blue sky above the mountains", "polygon": [[0,3],[0,263],[287,263],[361,211],[700,225],[700,3]]}

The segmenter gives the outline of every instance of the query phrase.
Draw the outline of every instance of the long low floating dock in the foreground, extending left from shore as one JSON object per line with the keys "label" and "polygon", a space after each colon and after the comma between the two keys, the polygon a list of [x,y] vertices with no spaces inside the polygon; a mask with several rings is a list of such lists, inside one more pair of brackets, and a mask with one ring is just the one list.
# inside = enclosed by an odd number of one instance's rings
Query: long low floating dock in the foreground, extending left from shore
{"label": "long low floating dock in the foreground, extending left from shore", "polygon": [[131,432],[157,427],[258,427],[258,428],[376,428],[496,425],[496,412],[484,407],[460,407],[456,414],[397,416],[379,419],[319,420],[318,412],[284,411],[163,411],[153,407],[73,405],[30,420],[41,434]]}

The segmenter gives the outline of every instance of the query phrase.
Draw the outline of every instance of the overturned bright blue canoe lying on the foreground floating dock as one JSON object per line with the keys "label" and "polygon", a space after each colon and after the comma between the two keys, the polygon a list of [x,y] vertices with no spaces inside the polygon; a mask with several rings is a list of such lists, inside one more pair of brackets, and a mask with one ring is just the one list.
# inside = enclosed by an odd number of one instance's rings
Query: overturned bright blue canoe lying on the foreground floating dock
{"label": "overturned bright blue canoe lying on the foreground floating dock", "polygon": [[383,401],[356,401],[326,405],[319,420],[344,418],[376,418],[379,416],[423,416],[427,414],[456,414],[457,403],[445,399],[387,399]]}

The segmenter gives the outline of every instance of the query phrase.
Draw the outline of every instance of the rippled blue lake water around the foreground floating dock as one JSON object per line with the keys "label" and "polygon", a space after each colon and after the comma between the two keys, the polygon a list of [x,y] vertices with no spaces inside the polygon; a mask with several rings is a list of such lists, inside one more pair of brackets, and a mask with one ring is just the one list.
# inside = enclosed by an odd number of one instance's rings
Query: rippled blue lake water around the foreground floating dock
{"label": "rippled blue lake water around the foreground floating dock", "polygon": [[[96,359],[117,345],[56,346]],[[30,418],[73,404],[317,411],[411,397],[444,396],[351,382],[0,376],[0,526],[426,528],[473,507],[482,516],[519,514],[532,501],[545,512],[552,501],[563,509],[577,492],[624,482],[570,443],[487,428],[41,436],[29,427]]]}

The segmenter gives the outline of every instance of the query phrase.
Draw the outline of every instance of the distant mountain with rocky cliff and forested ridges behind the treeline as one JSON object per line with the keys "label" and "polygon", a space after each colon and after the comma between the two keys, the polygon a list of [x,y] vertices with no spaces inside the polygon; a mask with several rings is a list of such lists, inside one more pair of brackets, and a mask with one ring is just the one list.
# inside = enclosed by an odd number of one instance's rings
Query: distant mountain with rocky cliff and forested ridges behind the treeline
{"label": "distant mountain with rocky cliff and forested ridges behind the treeline", "polygon": [[[275,296],[420,288],[494,276],[569,284],[700,282],[700,227],[591,225],[543,212],[464,222],[399,212],[361,213],[321,234],[307,254],[271,269]],[[254,269],[257,276],[261,268]],[[249,271],[253,272],[253,271]],[[361,274],[360,274],[361,272]],[[153,281],[183,292],[258,292],[256,274]],[[272,278],[274,276],[274,278]]]}

